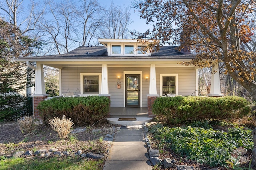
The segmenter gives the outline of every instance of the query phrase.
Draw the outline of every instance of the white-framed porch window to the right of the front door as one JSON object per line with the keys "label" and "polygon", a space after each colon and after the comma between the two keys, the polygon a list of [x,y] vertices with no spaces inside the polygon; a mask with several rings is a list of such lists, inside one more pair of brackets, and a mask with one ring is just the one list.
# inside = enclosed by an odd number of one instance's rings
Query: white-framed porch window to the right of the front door
{"label": "white-framed porch window to the right of the front door", "polygon": [[178,95],[178,74],[160,74],[160,95]]}

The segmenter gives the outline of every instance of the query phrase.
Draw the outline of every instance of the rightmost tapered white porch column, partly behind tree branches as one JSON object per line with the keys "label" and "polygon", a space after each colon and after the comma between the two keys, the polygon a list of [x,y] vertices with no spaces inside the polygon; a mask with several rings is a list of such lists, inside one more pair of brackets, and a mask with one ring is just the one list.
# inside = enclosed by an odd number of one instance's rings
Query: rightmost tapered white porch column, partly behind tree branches
{"label": "rightmost tapered white porch column, partly behind tree branches", "polygon": [[220,72],[218,64],[212,67],[211,89],[208,96],[224,96],[220,91]]}

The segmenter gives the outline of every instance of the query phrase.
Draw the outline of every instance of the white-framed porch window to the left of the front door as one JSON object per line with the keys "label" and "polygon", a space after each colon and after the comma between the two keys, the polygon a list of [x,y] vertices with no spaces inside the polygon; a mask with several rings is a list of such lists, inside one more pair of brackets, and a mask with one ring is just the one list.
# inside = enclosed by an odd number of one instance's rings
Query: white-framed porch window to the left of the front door
{"label": "white-framed porch window to the left of the front door", "polygon": [[99,94],[101,73],[80,73],[81,75],[81,93]]}

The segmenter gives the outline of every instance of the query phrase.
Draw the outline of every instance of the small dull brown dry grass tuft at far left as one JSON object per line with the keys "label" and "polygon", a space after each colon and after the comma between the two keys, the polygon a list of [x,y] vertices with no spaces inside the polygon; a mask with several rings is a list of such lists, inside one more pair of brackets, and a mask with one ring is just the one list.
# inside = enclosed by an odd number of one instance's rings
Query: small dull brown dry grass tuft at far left
{"label": "small dull brown dry grass tuft at far left", "polygon": [[20,131],[22,133],[33,133],[37,126],[35,123],[34,116],[22,117],[18,119],[18,123],[20,126]]}

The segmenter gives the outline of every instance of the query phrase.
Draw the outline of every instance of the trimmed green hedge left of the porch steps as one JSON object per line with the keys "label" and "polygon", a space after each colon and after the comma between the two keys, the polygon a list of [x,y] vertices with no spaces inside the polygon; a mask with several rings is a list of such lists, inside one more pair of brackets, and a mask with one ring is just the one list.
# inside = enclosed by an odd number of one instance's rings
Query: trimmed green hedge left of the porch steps
{"label": "trimmed green hedge left of the porch steps", "polygon": [[79,98],[53,98],[38,104],[38,110],[45,124],[48,119],[66,115],[77,125],[92,125],[107,116],[110,99],[104,96]]}

